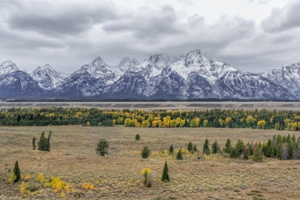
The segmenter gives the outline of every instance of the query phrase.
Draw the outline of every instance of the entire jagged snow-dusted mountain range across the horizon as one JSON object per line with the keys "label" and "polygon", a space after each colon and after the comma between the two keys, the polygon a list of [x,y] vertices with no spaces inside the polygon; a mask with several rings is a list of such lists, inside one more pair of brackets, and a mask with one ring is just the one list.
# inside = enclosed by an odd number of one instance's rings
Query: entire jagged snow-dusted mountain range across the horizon
{"label": "entire jagged snow-dusted mountain range across the horizon", "polygon": [[300,62],[261,74],[209,59],[199,49],[185,56],[165,54],[144,61],[125,58],[109,66],[101,57],[71,75],[49,64],[31,74],[12,61],[0,65],[0,97],[93,96],[99,99],[300,99]]}

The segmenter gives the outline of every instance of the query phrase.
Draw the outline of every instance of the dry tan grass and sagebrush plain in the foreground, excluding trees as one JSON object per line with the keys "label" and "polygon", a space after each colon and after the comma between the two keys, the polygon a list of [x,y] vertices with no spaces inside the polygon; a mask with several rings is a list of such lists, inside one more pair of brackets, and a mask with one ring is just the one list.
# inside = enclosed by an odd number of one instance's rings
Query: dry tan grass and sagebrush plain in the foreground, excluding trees
{"label": "dry tan grass and sagebrush plain in the foreground, excluding trees", "polygon": [[[51,151],[32,150],[31,139],[41,131],[53,131]],[[141,135],[140,141],[135,140]],[[299,199],[300,161],[226,159],[219,155],[201,156],[185,152],[183,161],[166,153],[171,144],[186,148],[189,141],[202,149],[206,137],[210,146],[216,139],[223,147],[233,143],[266,141],[274,134],[292,131],[256,129],[146,129],[119,127],[0,127],[0,199]],[[110,143],[109,156],[96,155],[96,143]],[[140,151],[149,146],[149,159]],[[200,159],[198,159],[198,157]],[[14,162],[19,161],[23,178],[7,184]],[[170,183],[160,181],[164,161],[168,161]],[[153,186],[143,184],[141,169],[148,167]],[[44,174],[43,179],[38,175]],[[41,175],[40,175],[41,176]],[[51,176],[60,177],[68,189],[45,187]],[[23,187],[32,191],[20,193]],[[86,185],[92,189],[85,189]],[[56,192],[57,191],[57,192]]]}

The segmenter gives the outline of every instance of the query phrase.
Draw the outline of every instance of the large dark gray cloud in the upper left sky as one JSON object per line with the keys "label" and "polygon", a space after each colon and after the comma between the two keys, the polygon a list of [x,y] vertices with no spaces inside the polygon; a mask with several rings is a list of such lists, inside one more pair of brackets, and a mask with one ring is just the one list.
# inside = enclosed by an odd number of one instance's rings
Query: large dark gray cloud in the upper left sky
{"label": "large dark gray cloud in the upper left sky", "polygon": [[58,6],[51,1],[9,1],[14,11],[9,12],[7,23],[11,29],[59,36],[80,34],[89,31],[94,24],[116,18],[116,9],[111,1],[99,1],[101,4],[96,5],[73,2],[62,1]]}

